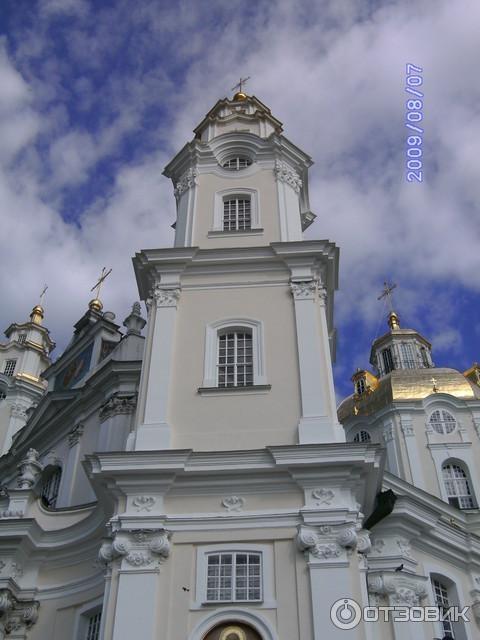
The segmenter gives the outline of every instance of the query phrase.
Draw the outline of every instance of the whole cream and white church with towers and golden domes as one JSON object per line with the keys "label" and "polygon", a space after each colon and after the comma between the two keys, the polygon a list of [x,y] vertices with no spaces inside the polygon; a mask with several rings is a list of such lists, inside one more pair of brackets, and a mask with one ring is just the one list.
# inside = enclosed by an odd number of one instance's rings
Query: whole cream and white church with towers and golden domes
{"label": "whole cream and white church with towers and golden domes", "polygon": [[[478,636],[480,369],[434,368],[392,311],[337,413],[311,165],[240,86],[164,170],[146,317],[118,324],[102,273],[54,362],[41,303],[6,330],[0,640]],[[374,605],[469,621],[351,620]]]}

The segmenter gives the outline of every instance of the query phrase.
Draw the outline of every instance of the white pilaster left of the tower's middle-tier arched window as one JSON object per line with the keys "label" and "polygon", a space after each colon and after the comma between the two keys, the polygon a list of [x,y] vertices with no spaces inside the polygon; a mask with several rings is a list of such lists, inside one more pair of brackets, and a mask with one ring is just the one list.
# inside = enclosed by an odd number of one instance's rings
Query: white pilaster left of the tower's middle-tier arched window
{"label": "white pilaster left of the tower's middle-tier arched window", "polygon": [[168,449],[168,400],[173,365],[179,288],[155,285],[150,301],[147,344],[140,380],[135,450]]}

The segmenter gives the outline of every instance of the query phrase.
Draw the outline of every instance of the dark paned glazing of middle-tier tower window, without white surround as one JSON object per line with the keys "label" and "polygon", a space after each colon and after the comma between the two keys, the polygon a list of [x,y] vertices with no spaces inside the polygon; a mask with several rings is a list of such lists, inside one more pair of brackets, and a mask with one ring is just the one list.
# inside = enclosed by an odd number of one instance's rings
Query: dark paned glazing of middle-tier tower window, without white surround
{"label": "dark paned glazing of middle-tier tower window, without white surround", "polygon": [[250,331],[226,331],[218,336],[219,387],[253,385],[253,346]]}

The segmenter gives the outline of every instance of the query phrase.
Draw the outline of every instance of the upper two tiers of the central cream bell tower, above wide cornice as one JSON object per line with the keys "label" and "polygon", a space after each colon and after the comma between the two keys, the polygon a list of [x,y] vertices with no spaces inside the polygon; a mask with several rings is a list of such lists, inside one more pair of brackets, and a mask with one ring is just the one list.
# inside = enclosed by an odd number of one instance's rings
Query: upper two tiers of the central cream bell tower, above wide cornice
{"label": "upper two tiers of the central cream bell tower, above wide cornice", "polygon": [[165,168],[175,243],[138,253],[148,312],[135,449],[343,441],[331,360],[338,249],[304,240],[311,158],[243,91]]}

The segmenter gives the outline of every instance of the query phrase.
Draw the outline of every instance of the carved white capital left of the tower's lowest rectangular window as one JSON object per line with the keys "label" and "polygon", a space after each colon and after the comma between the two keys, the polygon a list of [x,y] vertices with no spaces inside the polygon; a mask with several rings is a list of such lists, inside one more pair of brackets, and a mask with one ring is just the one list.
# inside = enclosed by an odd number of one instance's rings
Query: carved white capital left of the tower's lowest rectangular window
{"label": "carved white capital left of the tower's lowest rectangular window", "polygon": [[112,538],[104,539],[98,559],[106,565],[121,559],[134,569],[155,569],[170,555],[171,535],[165,529],[119,530]]}

